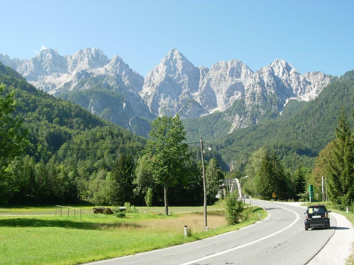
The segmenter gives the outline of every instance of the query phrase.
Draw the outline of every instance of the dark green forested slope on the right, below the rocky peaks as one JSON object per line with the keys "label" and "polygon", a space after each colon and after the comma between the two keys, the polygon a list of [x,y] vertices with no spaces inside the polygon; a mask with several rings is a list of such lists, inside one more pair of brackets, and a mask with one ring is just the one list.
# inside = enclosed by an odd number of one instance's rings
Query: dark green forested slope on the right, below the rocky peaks
{"label": "dark green forested slope on the right, below the rocky peaks", "polygon": [[[335,138],[335,126],[341,107],[350,117],[354,99],[354,70],[332,81],[318,98],[306,105],[299,104],[291,115],[263,120],[245,129],[237,129],[221,140],[211,143],[234,151],[251,154],[260,147],[275,151],[280,160],[292,163],[313,164],[319,151]],[[205,126],[208,126],[205,124]],[[203,135],[201,135],[203,136]],[[234,169],[243,169],[248,156],[219,149],[222,159]],[[233,164],[233,161],[234,164]],[[284,164],[295,169],[297,165]]]}

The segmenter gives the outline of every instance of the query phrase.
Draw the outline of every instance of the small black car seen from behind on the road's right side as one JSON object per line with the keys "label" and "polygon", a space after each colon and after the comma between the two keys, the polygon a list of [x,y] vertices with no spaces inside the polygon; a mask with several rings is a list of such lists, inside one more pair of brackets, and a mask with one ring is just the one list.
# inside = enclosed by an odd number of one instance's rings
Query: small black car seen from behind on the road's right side
{"label": "small black car seen from behind on the road's right side", "polygon": [[310,205],[307,206],[305,214],[305,230],[314,227],[330,228],[330,218],[325,205]]}

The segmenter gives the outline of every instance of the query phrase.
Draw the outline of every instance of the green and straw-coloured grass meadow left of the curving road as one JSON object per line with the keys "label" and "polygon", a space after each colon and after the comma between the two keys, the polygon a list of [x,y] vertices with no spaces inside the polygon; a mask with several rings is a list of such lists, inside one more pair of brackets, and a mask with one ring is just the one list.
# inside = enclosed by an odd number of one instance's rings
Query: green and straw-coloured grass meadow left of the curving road
{"label": "green and straw-coloured grass meadow left of the curving road", "polygon": [[[64,209],[62,217],[52,216],[55,207],[0,208],[0,264],[77,264],[120,257],[237,230],[255,223],[258,211],[262,219],[267,216],[261,208],[253,207],[250,220],[225,226],[224,211],[208,211],[210,230],[204,232],[202,212],[164,216],[144,214],[142,208],[139,214],[127,213],[127,218],[121,219],[91,214],[88,206],[82,208],[82,222],[78,215],[74,219],[73,213],[68,218]],[[150,207],[150,212],[164,211],[163,207],[154,208]],[[178,207],[178,211],[199,211],[199,208],[202,207]],[[4,216],[22,213],[24,216]],[[25,216],[28,213],[49,213],[51,216]],[[191,233],[186,238],[184,225]]]}

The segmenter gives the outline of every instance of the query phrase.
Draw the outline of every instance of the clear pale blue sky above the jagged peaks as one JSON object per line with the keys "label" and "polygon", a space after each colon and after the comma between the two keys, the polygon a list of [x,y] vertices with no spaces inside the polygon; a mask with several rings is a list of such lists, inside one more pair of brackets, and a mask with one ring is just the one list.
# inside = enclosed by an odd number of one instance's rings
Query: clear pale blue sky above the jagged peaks
{"label": "clear pale blue sky above the jagged peaks", "polygon": [[96,47],[141,75],[173,47],[195,66],[284,59],[299,72],[354,69],[354,1],[4,1],[0,53]]}

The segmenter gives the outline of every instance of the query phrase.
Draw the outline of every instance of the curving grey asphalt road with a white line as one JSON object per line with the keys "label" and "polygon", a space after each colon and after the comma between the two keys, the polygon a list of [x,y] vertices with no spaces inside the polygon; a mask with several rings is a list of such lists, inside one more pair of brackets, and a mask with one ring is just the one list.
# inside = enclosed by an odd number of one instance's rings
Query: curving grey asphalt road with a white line
{"label": "curving grey asphalt road with a white line", "polygon": [[306,264],[334,234],[331,229],[304,230],[304,207],[251,200],[269,216],[243,229],[175,247],[90,264]]}

